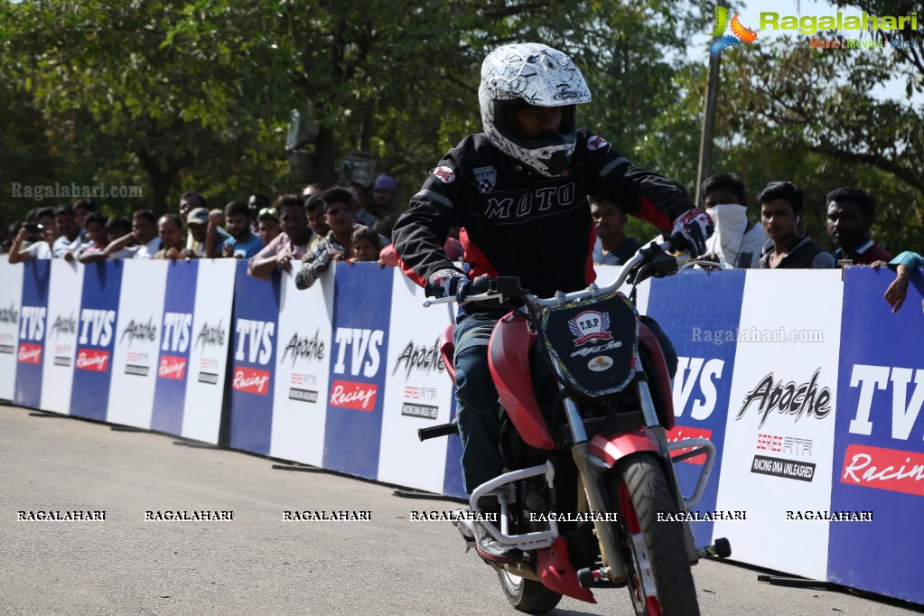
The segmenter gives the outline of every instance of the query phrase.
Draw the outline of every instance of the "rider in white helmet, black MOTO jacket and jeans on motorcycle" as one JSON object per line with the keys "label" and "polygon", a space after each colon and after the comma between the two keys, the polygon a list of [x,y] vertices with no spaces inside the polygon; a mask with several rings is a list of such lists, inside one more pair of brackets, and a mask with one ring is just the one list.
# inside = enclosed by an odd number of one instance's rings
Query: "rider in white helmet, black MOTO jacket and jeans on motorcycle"
{"label": "rider in white helmet, black MOTO jacket and jeans on motorcycle", "polygon": [[[479,103],[484,132],[444,156],[395,223],[401,267],[427,296],[462,297],[477,276],[519,276],[537,296],[585,288],[594,280],[596,240],[588,195],[680,234],[695,255],[705,251],[708,214],[669,180],[577,129],[576,107],[590,103],[590,90],[567,55],[531,42],[495,49],[481,66]],[[454,226],[468,274],[440,248]],[[456,319],[456,415],[469,493],[504,472],[488,368],[488,339],[504,314],[469,304]],[[520,559],[519,550],[474,526],[482,558]]]}

